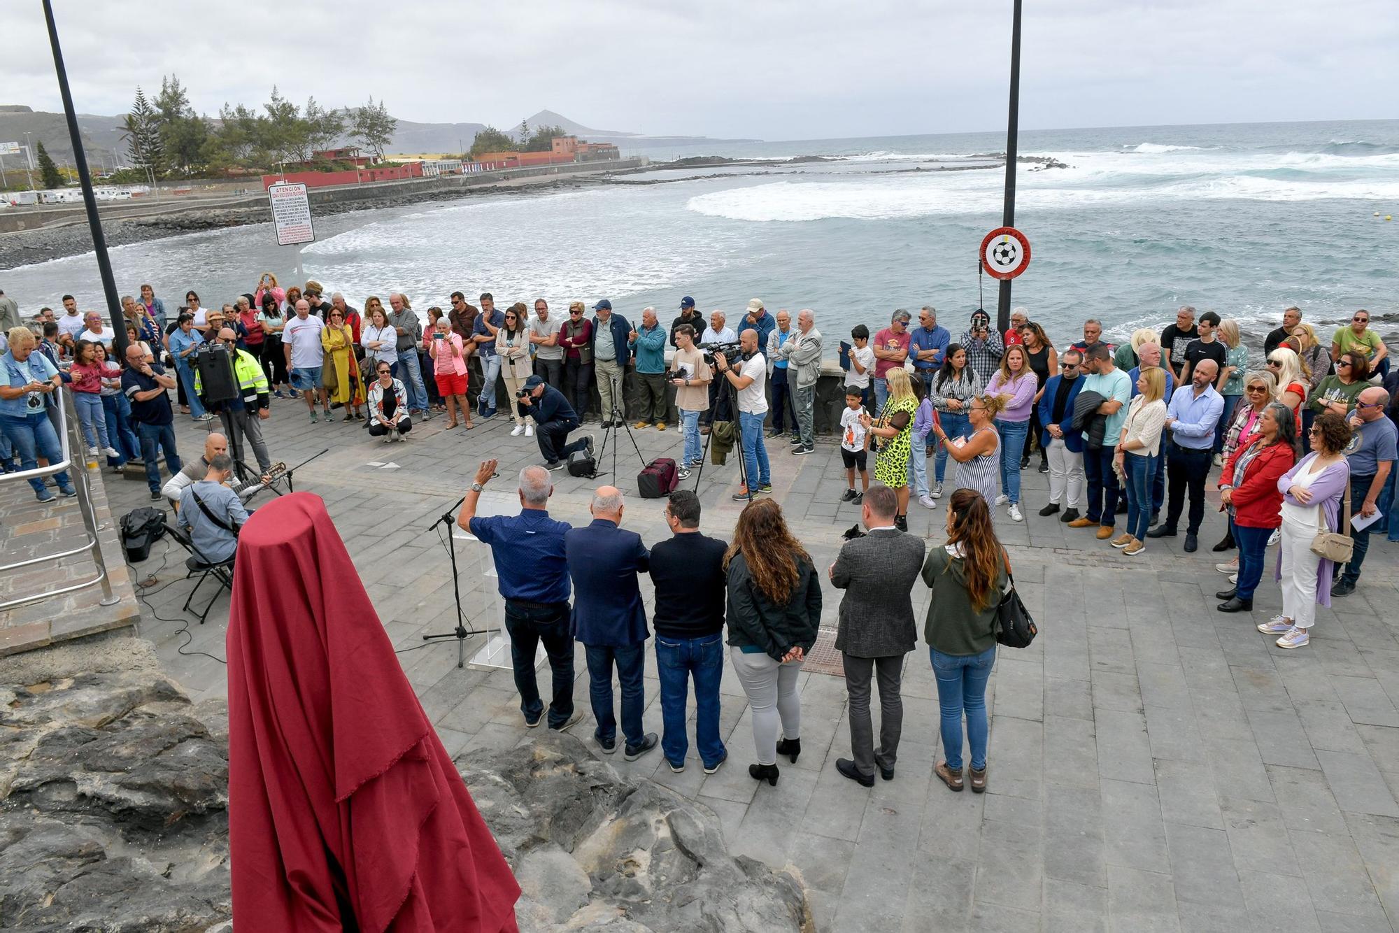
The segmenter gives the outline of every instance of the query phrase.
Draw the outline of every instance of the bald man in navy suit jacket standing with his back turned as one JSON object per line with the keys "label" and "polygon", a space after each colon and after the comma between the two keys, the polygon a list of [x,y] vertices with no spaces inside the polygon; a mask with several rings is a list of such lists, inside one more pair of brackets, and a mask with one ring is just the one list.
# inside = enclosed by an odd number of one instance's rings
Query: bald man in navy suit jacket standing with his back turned
{"label": "bald man in navy suit jacket standing with his back turned", "polygon": [[651,554],[639,534],[620,527],[623,506],[621,490],[599,487],[589,505],[592,525],[568,530],[564,553],[574,582],[574,638],[588,652],[588,692],[597,720],[593,737],[604,753],[617,750],[611,690],[616,663],[621,684],[621,732],[627,739],[624,758],[635,761],[656,747],[656,733],[644,733],[641,725],[646,706],[642,676],[651,632],[637,585],[637,575],[651,568]]}

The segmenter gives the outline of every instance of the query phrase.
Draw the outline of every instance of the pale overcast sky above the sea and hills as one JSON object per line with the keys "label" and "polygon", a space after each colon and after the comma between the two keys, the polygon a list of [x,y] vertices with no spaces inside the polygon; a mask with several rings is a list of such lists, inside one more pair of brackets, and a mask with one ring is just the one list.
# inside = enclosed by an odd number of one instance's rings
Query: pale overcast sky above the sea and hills
{"label": "pale overcast sky above the sea and hills", "polygon": [[[3,0],[0,104],[57,111],[38,3]],[[196,109],[386,99],[511,126],[548,108],[765,140],[1004,126],[1010,0],[55,0],[78,111],[178,74]],[[1028,0],[1021,126],[1396,116],[1395,0]],[[206,10],[208,13],[206,13]],[[301,64],[298,64],[301,63]]]}

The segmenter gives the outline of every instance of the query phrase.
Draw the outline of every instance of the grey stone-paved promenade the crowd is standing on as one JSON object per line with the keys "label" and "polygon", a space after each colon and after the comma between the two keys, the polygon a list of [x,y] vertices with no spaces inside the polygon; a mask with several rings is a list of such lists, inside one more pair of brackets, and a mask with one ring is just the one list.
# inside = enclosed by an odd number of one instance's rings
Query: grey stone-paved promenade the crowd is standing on
{"label": "grey stone-paved promenade the crowd is standing on", "polygon": [[[455,643],[418,646],[422,634],[453,624],[448,555],[429,523],[485,456],[499,457],[501,477],[483,501],[513,509],[515,474],[539,459],[533,439],[511,438],[505,418],[445,432],[438,417],[417,425],[410,442],[385,446],[358,424],[309,425],[304,406],[287,401],[266,424],[274,460],[295,464],[332,448],[297,474],[297,488],[325,498],[389,636],[416,649],[400,655],[403,667],[448,750],[470,757],[530,741],[509,670],[459,670]],[[199,456],[203,431],[179,420],[182,455]],[[637,432],[637,441],[648,457],[680,449],[674,429]],[[383,462],[396,469],[371,466]],[[611,469],[610,450],[604,466]],[[625,525],[660,540],[662,502],[635,498],[641,463],[625,434],[617,466],[620,480],[602,481],[628,492]],[[775,495],[823,568],[839,533],[859,520],[856,508],[838,504],[842,476],[831,442],[806,457],[772,445]],[[593,483],[557,477],[551,513],[586,522]],[[1308,648],[1284,652],[1254,629],[1279,607],[1274,585],[1263,583],[1251,618],[1214,611],[1213,592],[1226,582],[1209,553],[1223,527],[1213,508],[1199,554],[1182,554],[1175,539],[1129,558],[1091,532],[1038,518],[1045,477],[1031,467],[1024,478],[1027,520],[1013,523],[1002,509],[996,523],[1039,638],[997,657],[988,793],[954,795],[932,776],[937,704],[926,646],[905,667],[897,778],[870,790],[835,771],[835,758],[849,755],[845,684],[814,671],[802,674],[803,755],[781,762],[776,788],[747,775],[750,716],[732,671],[722,713],[729,762],[716,775],[705,776],[694,757],[672,774],[659,750],[611,764],[709,806],[737,852],[800,870],[820,930],[1399,926],[1395,546],[1372,539],[1357,592],[1319,611]],[[706,532],[732,533],[736,485],[732,456],[725,467],[705,467]],[[144,483],[108,473],[106,488],[113,515],[148,505]],[[940,543],[944,519],[942,508],[914,504],[909,526]],[[157,578],[140,634],[196,699],[221,697],[224,664],[180,653],[179,607],[190,583],[183,553],[171,551],[162,565],[165,547],[134,575]],[[457,560],[470,621],[498,621],[495,579],[481,574],[488,558],[459,541]],[[649,590],[644,581],[648,601]],[[839,592],[827,587],[824,597],[824,624],[834,627]],[[922,617],[922,585],[914,599]],[[183,650],[224,657],[227,606],[221,596]],[[467,642],[469,653],[483,646],[483,636]],[[574,697],[586,711],[581,649],[576,671]],[[645,719],[660,732],[653,673],[652,656]],[[546,667],[543,683],[547,676]],[[590,732],[589,715],[575,734]]]}

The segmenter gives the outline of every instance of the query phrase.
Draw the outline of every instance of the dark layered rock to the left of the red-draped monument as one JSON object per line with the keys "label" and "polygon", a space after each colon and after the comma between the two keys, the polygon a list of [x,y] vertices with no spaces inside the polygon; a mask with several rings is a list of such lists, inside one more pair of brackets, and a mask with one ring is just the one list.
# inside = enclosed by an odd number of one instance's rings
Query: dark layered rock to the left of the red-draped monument
{"label": "dark layered rock to the left of the red-draped monument", "polygon": [[231,918],[227,739],[194,712],[139,639],[0,663],[0,929]]}

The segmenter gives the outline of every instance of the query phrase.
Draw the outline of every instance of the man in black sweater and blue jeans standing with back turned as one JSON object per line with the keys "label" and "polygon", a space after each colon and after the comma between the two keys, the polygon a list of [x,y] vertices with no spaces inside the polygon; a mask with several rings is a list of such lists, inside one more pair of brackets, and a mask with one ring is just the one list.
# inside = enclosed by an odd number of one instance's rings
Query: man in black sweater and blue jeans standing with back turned
{"label": "man in black sweater and blue jeans standing with back turned", "polygon": [[700,497],[676,490],[666,505],[672,537],[651,548],[656,585],[656,676],[660,678],[660,750],[670,769],[686,769],[686,694],[695,683],[695,746],[712,775],[729,757],[719,737],[719,678],[723,676],[723,604],[727,574],[719,539],[700,533]]}

